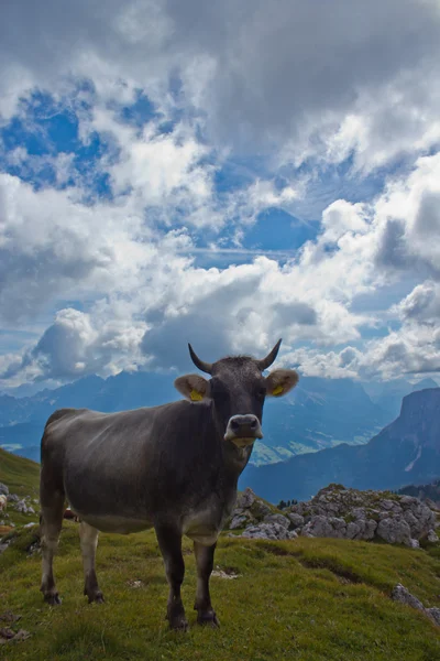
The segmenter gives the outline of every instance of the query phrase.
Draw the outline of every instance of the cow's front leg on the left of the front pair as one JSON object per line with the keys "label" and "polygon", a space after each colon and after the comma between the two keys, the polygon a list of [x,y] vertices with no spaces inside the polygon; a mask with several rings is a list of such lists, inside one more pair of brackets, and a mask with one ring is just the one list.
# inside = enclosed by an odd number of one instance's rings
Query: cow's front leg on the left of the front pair
{"label": "cow's front leg on the left of the front pair", "polygon": [[182,555],[182,532],[166,525],[156,525],[155,529],[169,585],[166,618],[172,629],[186,631],[188,622],[180,597],[180,586],[185,575],[185,563]]}

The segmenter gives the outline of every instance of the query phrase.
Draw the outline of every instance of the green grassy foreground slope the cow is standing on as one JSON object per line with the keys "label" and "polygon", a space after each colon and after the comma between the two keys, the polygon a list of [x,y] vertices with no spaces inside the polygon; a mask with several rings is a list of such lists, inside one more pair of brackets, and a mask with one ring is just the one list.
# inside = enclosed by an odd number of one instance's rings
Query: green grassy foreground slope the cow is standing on
{"label": "green grassy foreground slope the cow is standing on", "polygon": [[[189,542],[184,600],[187,635],[164,621],[167,586],[153,532],[102,534],[98,577],[107,602],[88,605],[77,524],[68,522],[55,562],[61,607],[38,593],[40,556],[23,531],[0,556],[1,610],[21,614],[32,632],[0,648],[13,660],[173,659],[204,661],[436,661],[440,631],[424,615],[391,600],[402,582],[428,606],[440,604],[440,560],[427,552],[345,540],[263,542],[223,537],[216,564],[240,574],[211,579],[220,630],[199,628],[191,609],[196,574]],[[131,581],[141,581],[133,588]],[[18,626],[15,626],[18,628]]]}

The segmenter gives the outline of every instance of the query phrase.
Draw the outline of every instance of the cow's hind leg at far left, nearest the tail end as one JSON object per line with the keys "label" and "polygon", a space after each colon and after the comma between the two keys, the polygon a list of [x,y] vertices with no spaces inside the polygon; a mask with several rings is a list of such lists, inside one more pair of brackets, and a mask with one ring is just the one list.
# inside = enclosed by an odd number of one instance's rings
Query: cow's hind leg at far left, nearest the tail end
{"label": "cow's hind leg at far left, nearest the tail end", "polygon": [[61,604],[62,600],[55,587],[53,573],[54,555],[58,548],[59,533],[63,525],[64,513],[64,492],[52,489],[44,483],[42,472],[42,483],[40,489],[41,516],[40,516],[40,537],[43,556],[43,576],[41,592],[44,600],[51,606]]}

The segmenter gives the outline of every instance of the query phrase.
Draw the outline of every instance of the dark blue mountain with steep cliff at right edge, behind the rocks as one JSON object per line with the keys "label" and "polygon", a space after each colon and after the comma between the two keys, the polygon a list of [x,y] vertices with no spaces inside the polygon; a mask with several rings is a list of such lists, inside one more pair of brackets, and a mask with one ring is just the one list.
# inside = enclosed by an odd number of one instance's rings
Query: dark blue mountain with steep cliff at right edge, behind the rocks
{"label": "dark blue mountain with steep cliff at right edge, behind the rocks", "polygon": [[361,446],[341,444],[268,466],[249,466],[240,488],[272,502],[307,500],[329,483],[358,489],[398,489],[440,476],[440,388],[404,398],[400,415]]}

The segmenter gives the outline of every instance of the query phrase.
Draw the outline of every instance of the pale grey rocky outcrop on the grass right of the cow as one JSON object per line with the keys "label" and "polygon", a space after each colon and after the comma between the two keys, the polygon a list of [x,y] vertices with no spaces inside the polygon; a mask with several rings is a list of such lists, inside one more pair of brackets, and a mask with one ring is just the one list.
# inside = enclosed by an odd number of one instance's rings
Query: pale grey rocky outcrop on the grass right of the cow
{"label": "pale grey rocky outcrop on the grass right of the cow", "polygon": [[[359,491],[330,485],[307,502],[274,513],[252,489],[238,499],[230,529],[252,539],[288,540],[298,535],[350,540],[382,540],[418,548],[419,540],[437,542],[437,517],[426,503],[387,491]],[[244,529],[244,530],[243,530]]]}

